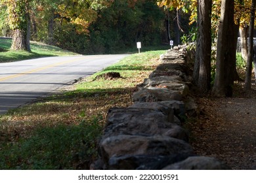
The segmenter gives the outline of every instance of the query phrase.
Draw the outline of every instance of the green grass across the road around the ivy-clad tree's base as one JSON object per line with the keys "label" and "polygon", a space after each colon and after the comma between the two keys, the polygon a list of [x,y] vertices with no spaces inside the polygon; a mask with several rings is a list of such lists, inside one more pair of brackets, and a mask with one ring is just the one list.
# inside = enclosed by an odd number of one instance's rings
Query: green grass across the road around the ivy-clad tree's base
{"label": "green grass across the road around the ivy-clad tree's base", "polygon": [[1,62],[9,62],[9,61],[18,61],[24,59],[32,59],[32,58],[41,58],[47,56],[69,56],[75,55],[74,52],[69,52],[67,50],[62,50],[56,46],[50,46],[47,44],[43,44],[40,42],[30,42],[32,52],[26,52],[23,50],[16,51],[11,50],[11,39],[3,39],[0,38],[0,48],[3,49],[0,52],[0,63]]}

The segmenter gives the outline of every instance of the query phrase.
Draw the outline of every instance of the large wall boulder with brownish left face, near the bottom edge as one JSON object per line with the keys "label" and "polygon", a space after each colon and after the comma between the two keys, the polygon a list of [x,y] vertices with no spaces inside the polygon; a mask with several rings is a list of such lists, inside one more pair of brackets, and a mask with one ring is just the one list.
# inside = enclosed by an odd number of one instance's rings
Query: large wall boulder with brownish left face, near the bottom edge
{"label": "large wall boulder with brownish left face, near the bottom edge", "polygon": [[179,139],[155,135],[142,137],[137,135],[117,135],[100,142],[100,153],[106,164],[112,157],[148,155],[169,156],[173,154],[192,154],[190,144]]}

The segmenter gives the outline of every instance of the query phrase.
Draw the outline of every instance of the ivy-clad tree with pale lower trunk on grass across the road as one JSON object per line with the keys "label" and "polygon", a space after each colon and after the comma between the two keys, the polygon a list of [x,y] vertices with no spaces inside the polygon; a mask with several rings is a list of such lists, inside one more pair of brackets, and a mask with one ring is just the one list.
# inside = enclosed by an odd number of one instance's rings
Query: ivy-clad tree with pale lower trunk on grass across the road
{"label": "ivy-clad tree with pale lower trunk on grass across the road", "polygon": [[9,0],[6,1],[9,10],[9,24],[13,30],[12,49],[30,49],[30,1]]}

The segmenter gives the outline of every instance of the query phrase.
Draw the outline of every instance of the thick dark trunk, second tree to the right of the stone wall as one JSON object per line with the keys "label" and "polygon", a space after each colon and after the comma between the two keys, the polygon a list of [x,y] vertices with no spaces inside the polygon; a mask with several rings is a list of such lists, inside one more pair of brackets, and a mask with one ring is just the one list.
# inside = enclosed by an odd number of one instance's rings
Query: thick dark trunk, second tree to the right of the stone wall
{"label": "thick dark trunk, second tree to the right of the stone wall", "polygon": [[221,20],[217,41],[217,63],[212,94],[231,97],[236,69],[236,45],[234,44],[234,1],[221,1]]}

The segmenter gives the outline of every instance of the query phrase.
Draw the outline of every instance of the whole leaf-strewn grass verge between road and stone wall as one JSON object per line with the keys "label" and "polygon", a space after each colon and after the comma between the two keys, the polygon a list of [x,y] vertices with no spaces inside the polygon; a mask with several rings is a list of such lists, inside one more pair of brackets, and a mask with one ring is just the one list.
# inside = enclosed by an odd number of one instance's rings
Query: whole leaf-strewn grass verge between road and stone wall
{"label": "whole leaf-strewn grass verge between road and stone wall", "polygon": [[[135,86],[164,52],[133,54],[69,92],[0,116],[0,169],[89,169],[108,109],[131,105]],[[96,78],[112,71],[121,78]]]}

